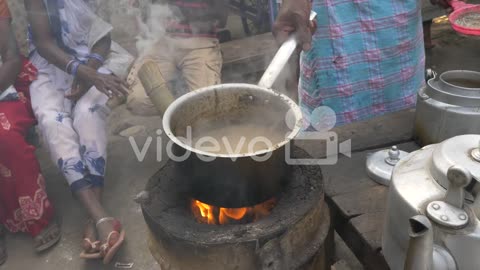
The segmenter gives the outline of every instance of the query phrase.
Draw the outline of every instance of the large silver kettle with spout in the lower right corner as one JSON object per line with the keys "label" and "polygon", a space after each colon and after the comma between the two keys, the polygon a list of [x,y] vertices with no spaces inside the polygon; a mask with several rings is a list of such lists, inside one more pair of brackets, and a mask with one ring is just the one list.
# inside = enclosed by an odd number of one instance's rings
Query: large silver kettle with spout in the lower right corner
{"label": "large silver kettle with spout in the lower right corner", "polygon": [[480,135],[429,145],[394,167],[382,237],[392,270],[479,269]]}

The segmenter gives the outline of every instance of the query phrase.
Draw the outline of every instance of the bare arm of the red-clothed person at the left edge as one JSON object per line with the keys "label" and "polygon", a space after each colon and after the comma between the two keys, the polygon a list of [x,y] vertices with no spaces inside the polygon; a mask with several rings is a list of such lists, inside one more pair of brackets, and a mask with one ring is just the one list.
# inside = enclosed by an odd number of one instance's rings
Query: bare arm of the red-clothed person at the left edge
{"label": "bare arm of the red-clothed person at the left edge", "polygon": [[0,19],[0,93],[15,83],[22,66],[10,20]]}

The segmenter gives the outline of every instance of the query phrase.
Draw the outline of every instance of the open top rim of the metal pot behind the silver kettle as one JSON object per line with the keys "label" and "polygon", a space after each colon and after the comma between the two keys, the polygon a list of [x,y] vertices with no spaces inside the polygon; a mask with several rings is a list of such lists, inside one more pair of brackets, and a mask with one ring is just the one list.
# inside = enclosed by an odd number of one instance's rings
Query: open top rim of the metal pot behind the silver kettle
{"label": "open top rim of the metal pot behind the silver kettle", "polygon": [[463,107],[480,104],[480,72],[452,70],[428,81],[425,94],[435,100]]}

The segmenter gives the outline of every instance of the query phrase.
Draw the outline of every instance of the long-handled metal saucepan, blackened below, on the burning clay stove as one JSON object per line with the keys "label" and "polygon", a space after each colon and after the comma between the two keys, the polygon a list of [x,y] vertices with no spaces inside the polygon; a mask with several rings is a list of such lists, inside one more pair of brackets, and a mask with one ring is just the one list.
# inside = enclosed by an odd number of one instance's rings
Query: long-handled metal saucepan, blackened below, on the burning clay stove
{"label": "long-handled metal saucepan, blackened below, on the burning clay stove", "polygon": [[[193,198],[210,205],[239,208],[264,202],[282,190],[290,172],[285,150],[300,132],[302,113],[294,101],[271,88],[296,46],[294,37],[282,45],[258,86],[206,87],[180,97],[168,107],[163,128],[174,143],[174,154],[188,156],[177,162],[177,168],[179,177],[189,183]],[[272,127],[282,139],[272,141],[268,149],[237,154],[203,151],[180,139],[189,126],[195,133],[195,126],[201,123],[215,126],[225,119]],[[262,157],[266,160],[258,161]]]}

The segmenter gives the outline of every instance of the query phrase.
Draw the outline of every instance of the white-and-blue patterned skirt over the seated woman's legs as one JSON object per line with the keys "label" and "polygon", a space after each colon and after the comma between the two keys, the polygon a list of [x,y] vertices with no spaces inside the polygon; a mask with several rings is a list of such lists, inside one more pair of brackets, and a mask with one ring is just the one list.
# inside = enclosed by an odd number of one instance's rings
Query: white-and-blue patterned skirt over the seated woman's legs
{"label": "white-and-blue patterned skirt over the seated woman's legs", "polygon": [[[53,68],[53,67],[51,67]],[[92,87],[76,104],[65,98],[42,69],[30,87],[33,111],[53,161],[71,185],[87,174],[103,177],[108,98]]]}

